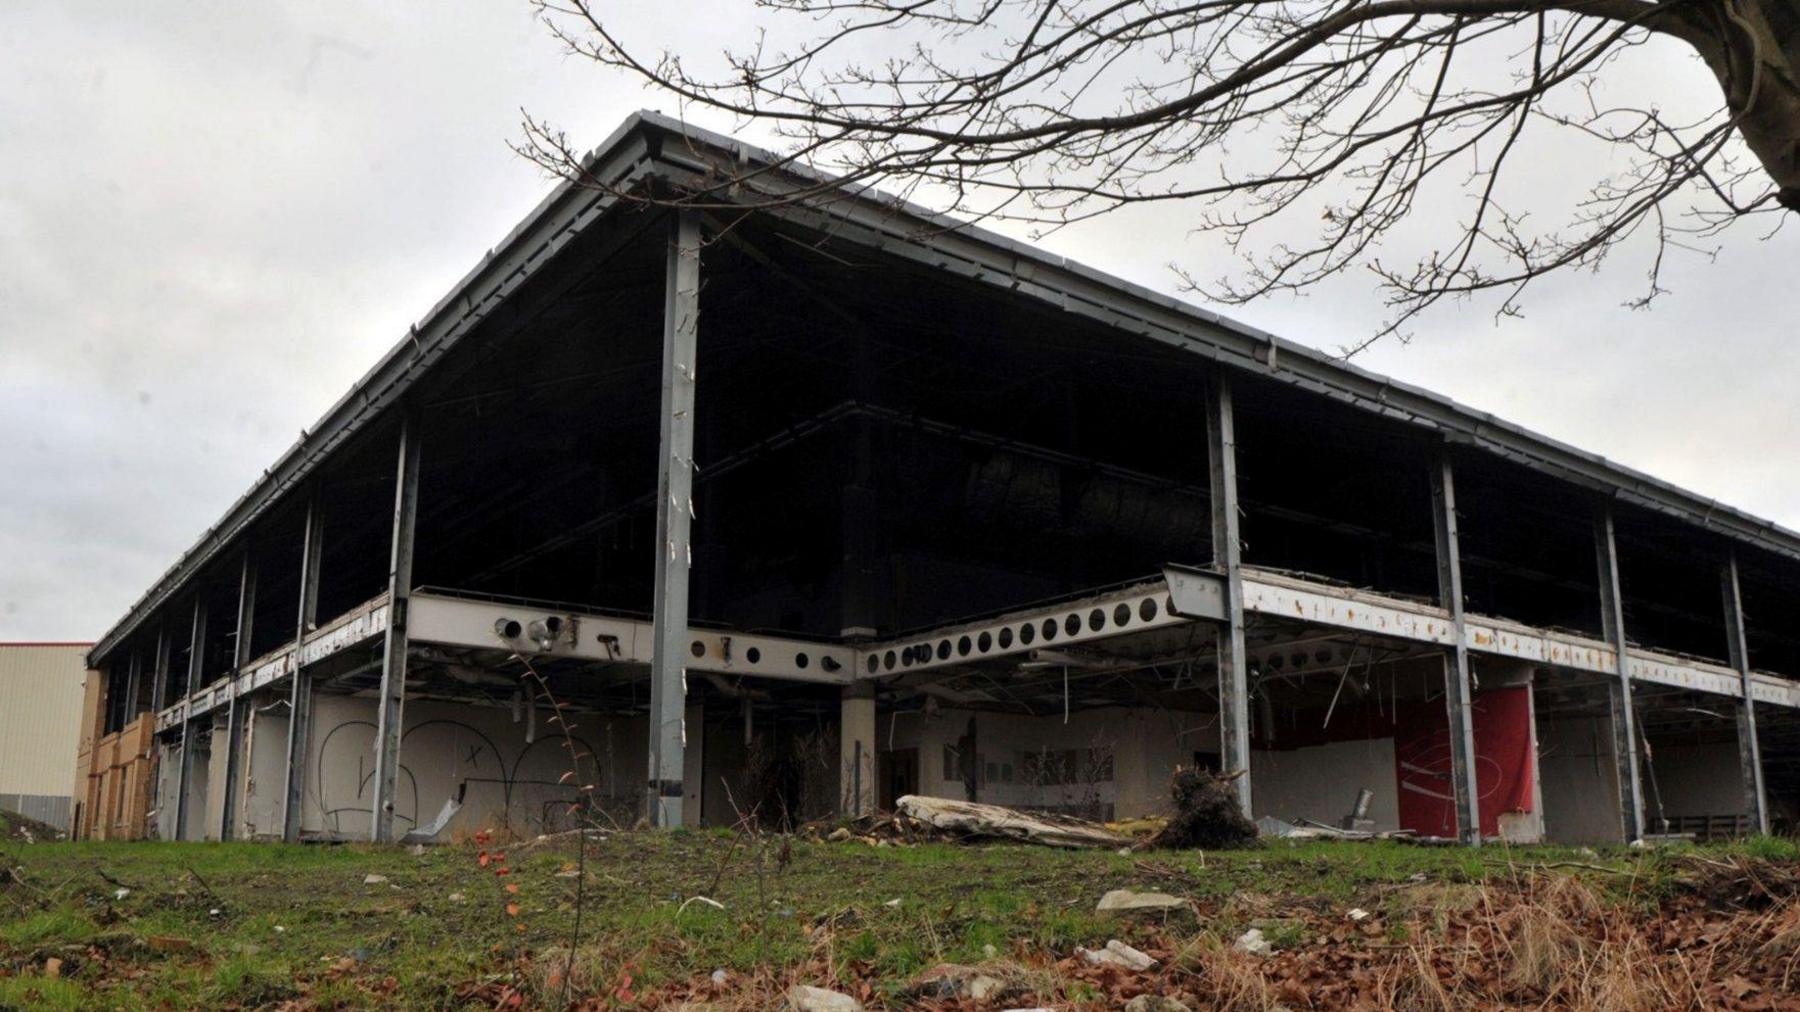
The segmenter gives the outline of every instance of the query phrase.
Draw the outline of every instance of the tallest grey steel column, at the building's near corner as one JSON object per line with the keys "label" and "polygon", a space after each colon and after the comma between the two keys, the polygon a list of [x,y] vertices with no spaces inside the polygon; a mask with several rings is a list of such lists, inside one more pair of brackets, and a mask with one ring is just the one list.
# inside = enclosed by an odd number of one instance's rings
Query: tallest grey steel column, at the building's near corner
{"label": "tallest grey steel column, at the building's near corner", "polygon": [[700,218],[677,211],[662,301],[662,423],[657,461],[655,652],[650,663],[650,778],[644,818],[682,819],[688,697],[688,565],[693,522],[695,353],[700,333]]}

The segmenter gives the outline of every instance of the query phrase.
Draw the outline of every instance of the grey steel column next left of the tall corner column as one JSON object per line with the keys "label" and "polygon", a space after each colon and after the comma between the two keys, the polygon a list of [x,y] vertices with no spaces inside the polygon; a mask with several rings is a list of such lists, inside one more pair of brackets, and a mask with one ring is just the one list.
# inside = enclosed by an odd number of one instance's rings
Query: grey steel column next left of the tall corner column
{"label": "grey steel column next left of the tall corner column", "polygon": [[387,634],[382,639],[382,700],[374,720],[374,801],[369,839],[394,843],[394,782],[407,702],[407,598],[412,594],[412,535],[419,513],[419,416],[400,420],[394,472],[394,537],[387,556]]}

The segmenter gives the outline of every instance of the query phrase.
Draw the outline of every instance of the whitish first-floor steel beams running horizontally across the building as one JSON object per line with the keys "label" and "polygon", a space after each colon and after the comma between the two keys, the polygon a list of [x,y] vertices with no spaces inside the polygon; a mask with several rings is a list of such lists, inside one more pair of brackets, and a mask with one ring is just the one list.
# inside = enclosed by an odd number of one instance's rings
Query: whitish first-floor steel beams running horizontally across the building
{"label": "whitish first-floor steel beams running horizontally across the building", "polygon": [[[1220,582],[1219,574],[1204,569],[1168,567],[1163,580],[866,646],[689,628],[686,666],[695,672],[821,684],[947,670],[976,661],[1019,657],[1031,650],[1096,643],[1192,621],[1215,621],[1217,614],[1206,609],[1211,607],[1208,601],[1215,600]],[[1244,569],[1244,607],[1246,612],[1273,619],[1435,646],[1453,643],[1454,636],[1449,614],[1436,605],[1251,567]],[[1183,614],[1184,610],[1197,610],[1197,616]],[[418,643],[509,650],[529,657],[648,664],[653,655],[648,619],[560,612],[544,605],[490,598],[414,594],[410,627],[410,639]],[[301,648],[301,663],[311,666],[351,646],[371,643],[385,628],[387,596],[382,594],[308,636]],[[1613,650],[1598,639],[1483,616],[1467,616],[1465,636],[1472,654],[1577,672],[1613,672]],[[1633,650],[1627,668],[1633,681],[1742,699],[1737,672],[1724,664]],[[200,717],[223,706],[232,688],[243,695],[292,673],[292,646],[265,654],[250,663],[236,684],[220,682],[166,708],[157,715],[157,729],[178,727],[185,717]],[[1751,691],[1757,702],[1800,709],[1800,682],[1757,672],[1751,675]]]}

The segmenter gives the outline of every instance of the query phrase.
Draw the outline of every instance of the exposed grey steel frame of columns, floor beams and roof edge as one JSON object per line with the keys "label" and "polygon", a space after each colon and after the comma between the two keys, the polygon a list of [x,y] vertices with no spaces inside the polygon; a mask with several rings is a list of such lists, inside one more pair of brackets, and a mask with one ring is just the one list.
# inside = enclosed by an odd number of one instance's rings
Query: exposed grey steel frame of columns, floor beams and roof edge
{"label": "exposed grey steel frame of columns, floor beams and roof edge", "polygon": [[[1453,780],[1460,836],[1480,843],[1480,810],[1474,778],[1471,718],[1471,655],[1510,657],[1552,668],[1607,675],[1615,724],[1615,756],[1620,764],[1620,809],[1627,837],[1645,830],[1638,773],[1638,731],[1631,700],[1634,682],[1652,682],[1737,700],[1737,726],[1748,805],[1768,827],[1768,801],[1757,745],[1757,704],[1800,708],[1800,682],[1753,672],[1744,637],[1737,558],[1728,556],[1721,587],[1730,636],[1728,666],[1692,661],[1633,646],[1625,636],[1620,598],[1618,549],[1613,502],[1629,502],[1676,517],[1696,529],[1712,531],[1733,544],[1753,546],[1800,560],[1800,535],[1757,520],[1667,483],[1631,472],[1593,454],[1573,450],[1492,416],[1471,412],[1382,376],[1348,367],[1273,335],[1244,328],[1193,306],[1154,295],[1091,268],[959,223],[936,218],[911,205],[878,196],[846,196],[824,205],[806,200],[781,202],[760,212],[779,220],[830,227],[837,236],[868,248],[925,263],[932,270],[999,290],[1037,297],[1067,313],[1098,321],[1118,331],[1148,337],[1211,360],[1204,391],[1208,454],[1208,499],[1211,567],[1170,567],[1163,580],[1096,591],[1073,601],[1019,609],[1004,616],[954,623],[886,641],[841,637],[806,641],[781,636],[751,636],[734,630],[695,628],[689,623],[691,522],[695,508],[695,384],[698,349],[698,292],[702,286],[702,216],[682,209],[670,214],[664,276],[661,414],[657,445],[657,558],[650,619],[619,614],[567,612],[515,601],[468,598],[419,591],[412,580],[418,524],[421,438],[410,387],[454,346],[513,297],[540,268],[608,211],[621,193],[637,185],[704,189],[722,166],[769,166],[758,185],[774,196],[797,193],[819,180],[785,166],[774,155],[731,139],[686,128],[653,113],[639,113],[589,158],[594,180],[605,185],[558,187],[518,229],[470,272],[407,339],[331,411],[304,432],[281,461],[239,499],[207,537],[140,598],[90,654],[90,664],[113,659],[144,623],[162,619],[153,655],[151,704],[160,731],[180,733],[176,780],[176,836],[187,834],[187,785],[194,762],[194,724],[216,708],[227,711],[232,754],[225,773],[225,825],[230,834],[232,796],[239,780],[238,740],[241,699],[286,684],[288,771],[284,783],[283,836],[299,837],[299,807],[304,794],[310,709],[317,693],[313,672],[322,661],[380,639],[380,702],[374,762],[371,836],[391,841],[392,792],[400,767],[407,657],[414,645],[495,650],[502,655],[551,655],[603,664],[648,668],[652,735],[644,782],[646,812],[655,825],[682,819],[682,751],[686,745],[686,672],[772,677],[841,686],[846,699],[866,699],[869,681],[922,672],[952,672],[959,666],[1019,655],[1033,648],[1080,645],[1184,623],[1217,627],[1220,754],[1228,769],[1249,769],[1249,657],[1244,630],[1251,618],[1280,619],[1426,645],[1444,657],[1447,720],[1453,744]],[[783,166],[779,171],[774,166]],[[929,225],[920,229],[918,225]],[[1240,553],[1237,436],[1233,376],[1253,373],[1357,409],[1399,418],[1433,434],[1438,459],[1431,468],[1431,520],[1438,576],[1438,601],[1420,603],[1399,596],[1352,591],[1247,567]],[[385,591],[324,625],[319,623],[319,569],[324,502],[313,481],[320,461],[380,414],[401,416],[396,501],[389,537]],[[1534,472],[1573,483],[1604,495],[1595,511],[1600,614],[1604,637],[1591,639],[1523,623],[1465,614],[1462,592],[1462,547],[1454,474],[1449,447],[1472,447]],[[247,531],[283,497],[311,488],[304,511],[299,614],[290,645],[263,657],[248,657],[256,600],[256,567],[243,555],[238,632],[232,672],[220,684],[203,686],[207,603],[194,594],[202,569],[243,544]],[[185,691],[167,695],[173,601],[193,596],[191,648]],[[846,632],[860,632],[862,627]],[[140,659],[128,657],[133,672]],[[133,675],[135,679],[137,675]],[[860,771],[860,758],[859,767]],[[1237,782],[1238,798],[1253,810],[1253,780]],[[859,789],[860,798],[860,789]]]}

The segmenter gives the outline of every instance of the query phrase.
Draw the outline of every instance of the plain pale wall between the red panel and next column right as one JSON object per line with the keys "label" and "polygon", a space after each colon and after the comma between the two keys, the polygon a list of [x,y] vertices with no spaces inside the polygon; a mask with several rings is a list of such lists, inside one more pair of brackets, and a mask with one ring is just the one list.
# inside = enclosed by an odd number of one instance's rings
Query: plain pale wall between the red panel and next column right
{"label": "plain pale wall between the red panel and next column right", "polygon": [[1544,800],[1544,839],[1622,843],[1618,767],[1606,718],[1537,722],[1537,783]]}

